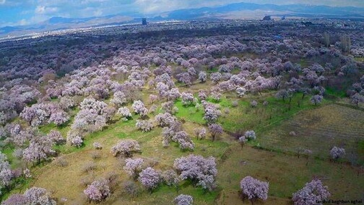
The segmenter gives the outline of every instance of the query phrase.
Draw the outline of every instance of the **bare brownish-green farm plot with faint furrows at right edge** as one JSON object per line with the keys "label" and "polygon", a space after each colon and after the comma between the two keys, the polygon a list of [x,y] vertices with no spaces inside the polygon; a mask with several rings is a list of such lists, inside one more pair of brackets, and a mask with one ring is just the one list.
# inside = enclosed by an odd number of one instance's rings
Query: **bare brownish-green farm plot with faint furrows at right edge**
{"label": "bare brownish-green farm plot with faint furrows at right edge", "polygon": [[330,104],[302,111],[257,140],[264,148],[290,152],[303,148],[323,158],[329,158],[333,146],[342,147],[346,160],[363,162],[363,128],[363,111]]}

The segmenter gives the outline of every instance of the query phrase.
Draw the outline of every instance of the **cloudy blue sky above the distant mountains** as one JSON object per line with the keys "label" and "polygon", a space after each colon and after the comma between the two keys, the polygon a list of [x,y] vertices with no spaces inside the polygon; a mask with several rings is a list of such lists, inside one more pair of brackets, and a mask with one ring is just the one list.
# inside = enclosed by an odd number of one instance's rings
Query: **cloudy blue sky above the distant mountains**
{"label": "cloudy blue sky above the distant mountains", "polygon": [[140,17],[181,8],[218,6],[242,1],[364,7],[364,0],[0,0],[0,27],[39,23],[53,16],[83,18],[126,13]]}

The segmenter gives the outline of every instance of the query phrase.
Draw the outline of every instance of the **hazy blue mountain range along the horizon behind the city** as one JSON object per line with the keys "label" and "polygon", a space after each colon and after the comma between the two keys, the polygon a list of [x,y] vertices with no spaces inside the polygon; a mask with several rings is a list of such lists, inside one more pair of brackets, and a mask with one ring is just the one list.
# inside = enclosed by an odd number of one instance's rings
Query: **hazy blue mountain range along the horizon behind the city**
{"label": "hazy blue mountain range along the horizon behind the city", "polygon": [[[148,20],[193,20],[193,19],[262,19],[265,15],[272,17],[289,16],[296,18],[341,18],[364,20],[364,8],[359,7],[329,7],[320,5],[276,5],[234,3],[220,7],[202,7],[195,9],[179,9],[170,12],[156,13]],[[135,18],[138,16],[140,18]],[[124,23],[141,22],[141,13],[119,13],[102,17],[63,18],[52,17],[47,21],[27,26],[6,26],[0,28],[0,36],[23,35],[32,32],[52,31],[67,28],[104,26]]]}

